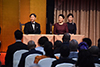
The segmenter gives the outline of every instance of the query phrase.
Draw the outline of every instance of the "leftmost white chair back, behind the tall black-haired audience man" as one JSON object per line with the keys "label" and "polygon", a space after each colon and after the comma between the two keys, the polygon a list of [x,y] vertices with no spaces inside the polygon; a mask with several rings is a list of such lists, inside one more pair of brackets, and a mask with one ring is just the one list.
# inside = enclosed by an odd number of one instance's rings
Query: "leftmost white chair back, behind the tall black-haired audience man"
{"label": "leftmost white chair back, behind the tall black-haired audience man", "polygon": [[13,54],[13,67],[18,67],[19,61],[23,53],[28,52],[28,50],[17,50]]}

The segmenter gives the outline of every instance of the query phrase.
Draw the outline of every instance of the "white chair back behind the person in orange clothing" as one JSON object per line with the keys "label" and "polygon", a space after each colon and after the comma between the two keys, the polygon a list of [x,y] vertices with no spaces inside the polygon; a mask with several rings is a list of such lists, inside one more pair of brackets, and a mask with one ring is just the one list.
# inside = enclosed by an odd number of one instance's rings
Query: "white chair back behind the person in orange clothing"
{"label": "white chair back behind the person in orange clothing", "polygon": [[41,66],[41,67],[51,67],[52,65],[52,62],[56,60],[55,58],[44,58],[44,59],[41,59],[38,64]]}

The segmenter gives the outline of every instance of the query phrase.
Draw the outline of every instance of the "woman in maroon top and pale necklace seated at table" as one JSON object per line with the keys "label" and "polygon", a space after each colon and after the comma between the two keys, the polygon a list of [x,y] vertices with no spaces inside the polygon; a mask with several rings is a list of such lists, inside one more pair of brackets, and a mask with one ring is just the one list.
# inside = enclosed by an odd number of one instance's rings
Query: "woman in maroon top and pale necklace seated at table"
{"label": "woman in maroon top and pale necklace seated at table", "polygon": [[54,24],[54,34],[64,34],[68,33],[68,26],[66,23],[64,23],[64,15],[60,14],[58,16],[58,23]]}

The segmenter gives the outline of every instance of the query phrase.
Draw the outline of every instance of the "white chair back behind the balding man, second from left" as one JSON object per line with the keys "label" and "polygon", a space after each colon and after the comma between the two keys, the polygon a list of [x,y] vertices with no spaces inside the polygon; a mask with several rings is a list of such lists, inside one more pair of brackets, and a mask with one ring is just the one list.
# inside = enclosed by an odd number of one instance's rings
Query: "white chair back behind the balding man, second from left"
{"label": "white chair back behind the balding man, second from left", "polygon": [[35,57],[41,56],[41,54],[30,54],[25,58],[25,67],[29,67],[34,63]]}

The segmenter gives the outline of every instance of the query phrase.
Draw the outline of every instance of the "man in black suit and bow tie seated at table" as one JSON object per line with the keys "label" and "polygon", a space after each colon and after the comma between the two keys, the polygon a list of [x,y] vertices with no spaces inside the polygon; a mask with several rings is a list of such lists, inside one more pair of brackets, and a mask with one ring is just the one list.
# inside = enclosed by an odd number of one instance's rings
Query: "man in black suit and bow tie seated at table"
{"label": "man in black suit and bow tie seated at table", "polygon": [[35,22],[36,15],[32,13],[30,16],[30,22],[25,24],[24,33],[25,34],[40,34],[40,24]]}

